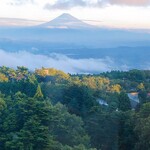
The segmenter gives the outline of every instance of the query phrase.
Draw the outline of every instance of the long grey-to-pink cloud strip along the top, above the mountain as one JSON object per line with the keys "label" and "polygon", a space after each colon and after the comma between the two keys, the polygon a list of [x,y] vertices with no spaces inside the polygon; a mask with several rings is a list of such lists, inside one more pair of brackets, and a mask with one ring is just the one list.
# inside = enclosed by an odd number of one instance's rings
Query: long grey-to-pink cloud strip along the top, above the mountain
{"label": "long grey-to-pink cloud strip along the top, above the mountain", "polygon": [[74,7],[102,7],[104,5],[148,6],[150,0],[57,0],[53,5],[47,3],[46,9],[71,9]]}

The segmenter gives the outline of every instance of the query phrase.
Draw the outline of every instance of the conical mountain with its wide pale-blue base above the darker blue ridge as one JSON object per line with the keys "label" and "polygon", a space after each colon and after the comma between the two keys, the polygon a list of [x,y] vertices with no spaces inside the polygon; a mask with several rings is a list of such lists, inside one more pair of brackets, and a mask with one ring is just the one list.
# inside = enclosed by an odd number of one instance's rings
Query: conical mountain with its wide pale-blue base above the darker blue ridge
{"label": "conical mountain with its wide pale-blue base above the darker blue ridge", "polygon": [[36,26],[0,27],[0,48],[12,50],[12,47],[16,49],[17,46],[18,49],[36,47],[42,51],[50,48],[150,47],[150,34],[138,30],[92,26],[64,13]]}

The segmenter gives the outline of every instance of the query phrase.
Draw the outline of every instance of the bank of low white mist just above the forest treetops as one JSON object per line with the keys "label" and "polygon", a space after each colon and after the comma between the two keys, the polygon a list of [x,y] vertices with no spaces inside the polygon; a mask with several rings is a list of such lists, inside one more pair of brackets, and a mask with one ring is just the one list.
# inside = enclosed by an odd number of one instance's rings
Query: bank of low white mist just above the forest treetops
{"label": "bank of low white mist just above the forest treetops", "polygon": [[126,65],[117,65],[111,58],[104,59],[73,59],[62,54],[49,56],[36,55],[29,52],[6,52],[0,50],[0,66],[16,68],[25,66],[31,70],[35,68],[56,68],[67,73],[100,73],[110,70],[128,70]]}

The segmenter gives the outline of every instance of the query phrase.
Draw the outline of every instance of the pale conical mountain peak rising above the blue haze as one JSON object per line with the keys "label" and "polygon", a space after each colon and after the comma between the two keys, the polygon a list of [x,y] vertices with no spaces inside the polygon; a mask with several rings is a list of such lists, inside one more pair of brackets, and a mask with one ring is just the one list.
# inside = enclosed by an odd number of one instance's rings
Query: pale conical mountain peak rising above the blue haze
{"label": "pale conical mountain peak rising above the blue haze", "polygon": [[92,25],[84,23],[83,21],[73,17],[68,13],[63,13],[62,15],[58,16],[57,18],[39,25],[38,27],[43,28],[60,28],[60,29],[89,29],[89,28],[96,28]]}

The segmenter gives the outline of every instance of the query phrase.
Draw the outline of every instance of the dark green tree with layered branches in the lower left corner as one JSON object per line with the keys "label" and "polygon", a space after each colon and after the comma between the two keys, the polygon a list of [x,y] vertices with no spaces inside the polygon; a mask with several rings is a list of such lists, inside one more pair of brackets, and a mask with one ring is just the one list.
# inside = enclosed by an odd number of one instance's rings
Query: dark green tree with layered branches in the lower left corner
{"label": "dark green tree with layered branches in the lower left corner", "polygon": [[3,120],[3,130],[7,132],[3,142],[5,149],[41,150],[49,147],[50,105],[17,93],[13,108],[9,109],[5,112],[9,115]]}

